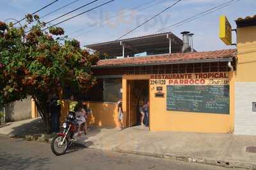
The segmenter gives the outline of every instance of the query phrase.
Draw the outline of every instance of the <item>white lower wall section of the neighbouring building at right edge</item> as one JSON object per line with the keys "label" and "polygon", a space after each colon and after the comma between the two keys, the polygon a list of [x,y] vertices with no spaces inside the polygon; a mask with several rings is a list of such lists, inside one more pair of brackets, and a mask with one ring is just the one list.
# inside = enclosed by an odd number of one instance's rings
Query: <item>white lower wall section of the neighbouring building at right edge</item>
{"label": "white lower wall section of the neighbouring building at right edge", "polygon": [[256,112],[252,111],[252,102],[256,102],[256,82],[236,82],[234,134],[256,135]]}

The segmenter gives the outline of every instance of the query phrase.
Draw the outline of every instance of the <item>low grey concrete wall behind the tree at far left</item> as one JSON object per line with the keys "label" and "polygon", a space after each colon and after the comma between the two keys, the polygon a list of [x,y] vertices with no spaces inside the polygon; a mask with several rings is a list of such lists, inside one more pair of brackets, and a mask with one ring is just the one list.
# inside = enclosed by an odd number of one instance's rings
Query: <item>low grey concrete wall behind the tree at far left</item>
{"label": "low grey concrete wall behind the tree at far left", "polygon": [[31,118],[31,97],[6,105],[5,121],[19,121]]}

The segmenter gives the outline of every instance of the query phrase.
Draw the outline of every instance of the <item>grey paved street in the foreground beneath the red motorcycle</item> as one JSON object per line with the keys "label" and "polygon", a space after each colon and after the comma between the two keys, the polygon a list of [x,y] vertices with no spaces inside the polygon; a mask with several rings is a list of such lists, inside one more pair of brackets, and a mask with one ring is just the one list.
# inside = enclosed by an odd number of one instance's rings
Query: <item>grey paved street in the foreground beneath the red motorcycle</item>
{"label": "grey paved street in the foreground beneath the red motorcycle", "polygon": [[0,169],[226,169],[76,147],[56,157],[50,145],[0,135]]}

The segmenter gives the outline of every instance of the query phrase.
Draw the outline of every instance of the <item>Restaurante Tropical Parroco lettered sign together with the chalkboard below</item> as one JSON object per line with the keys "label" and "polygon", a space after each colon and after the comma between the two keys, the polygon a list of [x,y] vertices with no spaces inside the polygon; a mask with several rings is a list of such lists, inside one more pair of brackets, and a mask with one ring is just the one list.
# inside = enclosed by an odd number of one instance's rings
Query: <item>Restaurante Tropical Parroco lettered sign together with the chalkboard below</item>
{"label": "Restaurante Tropical Parroco lettered sign together with the chalkboard below", "polygon": [[166,86],[166,111],[229,114],[228,72],[150,75],[150,86]]}

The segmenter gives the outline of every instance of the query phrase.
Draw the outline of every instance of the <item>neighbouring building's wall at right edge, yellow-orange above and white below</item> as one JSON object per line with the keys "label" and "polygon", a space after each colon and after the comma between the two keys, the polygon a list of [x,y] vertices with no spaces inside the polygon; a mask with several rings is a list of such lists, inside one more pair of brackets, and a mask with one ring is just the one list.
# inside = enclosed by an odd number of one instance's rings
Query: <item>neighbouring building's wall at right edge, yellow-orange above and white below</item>
{"label": "neighbouring building's wall at right edge, yellow-orange above and white below", "polygon": [[256,26],[237,28],[235,134],[256,135]]}

